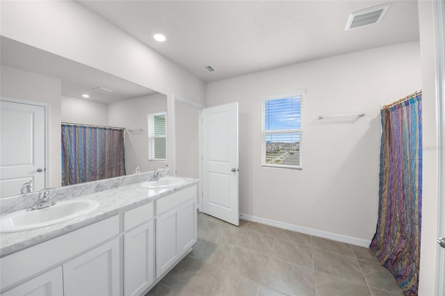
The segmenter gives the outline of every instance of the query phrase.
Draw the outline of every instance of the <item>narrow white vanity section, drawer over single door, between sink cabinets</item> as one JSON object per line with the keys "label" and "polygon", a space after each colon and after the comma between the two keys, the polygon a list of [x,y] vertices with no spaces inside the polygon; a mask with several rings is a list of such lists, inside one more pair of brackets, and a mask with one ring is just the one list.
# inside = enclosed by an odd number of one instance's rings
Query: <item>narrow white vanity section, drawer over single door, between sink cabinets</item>
{"label": "narrow white vanity section, drawer over single door, between sink cabinets", "polygon": [[124,231],[126,231],[124,233],[124,295],[126,296],[140,295],[154,282],[153,217],[153,203],[124,213]]}

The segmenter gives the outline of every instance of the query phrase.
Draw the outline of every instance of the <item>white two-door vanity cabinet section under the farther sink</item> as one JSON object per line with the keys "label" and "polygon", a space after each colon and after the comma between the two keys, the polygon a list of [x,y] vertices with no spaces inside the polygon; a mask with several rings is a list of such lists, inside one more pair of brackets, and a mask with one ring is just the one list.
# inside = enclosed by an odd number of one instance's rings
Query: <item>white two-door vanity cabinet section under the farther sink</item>
{"label": "white two-door vanity cabinet section under the farther sink", "polygon": [[156,277],[170,270],[197,241],[196,186],[156,201]]}

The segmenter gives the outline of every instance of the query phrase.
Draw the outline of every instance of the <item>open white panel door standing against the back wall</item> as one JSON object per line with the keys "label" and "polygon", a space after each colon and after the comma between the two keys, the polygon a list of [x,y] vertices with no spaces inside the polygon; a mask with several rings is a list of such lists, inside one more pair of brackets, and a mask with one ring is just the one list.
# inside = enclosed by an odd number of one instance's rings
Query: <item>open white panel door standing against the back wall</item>
{"label": "open white panel door standing against the back wall", "polygon": [[203,211],[239,225],[238,102],[202,109]]}

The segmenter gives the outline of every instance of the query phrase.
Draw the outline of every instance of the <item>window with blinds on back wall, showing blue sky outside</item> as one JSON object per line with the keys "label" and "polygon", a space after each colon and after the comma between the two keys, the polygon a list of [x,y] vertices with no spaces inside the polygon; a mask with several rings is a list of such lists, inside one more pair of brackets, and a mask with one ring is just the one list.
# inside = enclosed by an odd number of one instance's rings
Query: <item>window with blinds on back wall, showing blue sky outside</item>
{"label": "window with blinds on back wall, showing blue sky outside", "polygon": [[302,95],[261,101],[261,165],[302,168]]}

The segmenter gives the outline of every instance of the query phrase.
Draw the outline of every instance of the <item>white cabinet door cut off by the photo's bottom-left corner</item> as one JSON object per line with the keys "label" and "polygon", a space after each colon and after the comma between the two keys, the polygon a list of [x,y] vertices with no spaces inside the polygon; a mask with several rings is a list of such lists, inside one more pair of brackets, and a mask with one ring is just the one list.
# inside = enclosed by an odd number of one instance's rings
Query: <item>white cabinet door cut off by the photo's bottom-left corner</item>
{"label": "white cabinet door cut off by the photo's bottom-left corner", "polygon": [[[3,270],[3,272],[5,272]],[[41,295],[41,296],[59,296],[63,295],[62,266],[58,266],[38,277],[25,281],[21,285],[12,288],[2,296],[17,295]]]}

